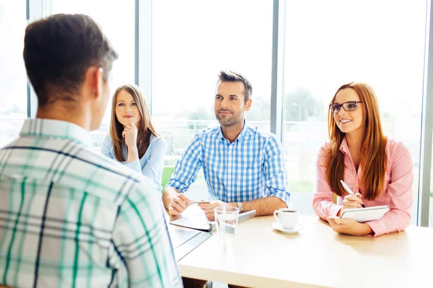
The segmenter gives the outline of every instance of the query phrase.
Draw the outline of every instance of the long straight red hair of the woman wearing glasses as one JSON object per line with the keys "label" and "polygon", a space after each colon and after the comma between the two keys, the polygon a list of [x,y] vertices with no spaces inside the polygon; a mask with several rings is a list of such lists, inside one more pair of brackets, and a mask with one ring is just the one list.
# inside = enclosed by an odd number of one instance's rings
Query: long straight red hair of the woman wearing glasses
{"label": "long straight red hair of the woman wearing glasses", "polygon": [[[340,90],[353,89],[359,96],[363,110],[364,132],[360,152],[360,165],[363,167],[363,175],[359,184],[363,198],[368,200],[376,199],[384,190],[385,176],[387,171],[386,145],[387,138],[383,135],[380,123],[380,113],[377,98],[373,88],[366,83],[351,82],[342,85],[331,100],[334,103],[335,96]],[[333,112],[328,112],[328,136],[330,145],[325,164],[326,177],[332,191],[339,196],[347,194],[343,189],[340,179],[344,176],[344,154],[340,151],[340,145],[345,133],[335,123]]]}

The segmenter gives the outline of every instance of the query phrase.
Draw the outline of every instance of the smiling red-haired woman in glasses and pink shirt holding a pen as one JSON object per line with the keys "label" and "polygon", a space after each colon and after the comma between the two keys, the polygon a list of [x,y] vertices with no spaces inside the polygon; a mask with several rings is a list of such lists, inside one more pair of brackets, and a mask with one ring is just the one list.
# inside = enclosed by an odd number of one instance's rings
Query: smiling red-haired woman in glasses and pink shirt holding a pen
{"label": "smiling red-haired woman in glasses and pink shirt holding a pen", "polygon": [[[376,95],[365,83],[341,86],[329,105],[329,142],[317,160],[316,214],[334,231],[374,236],[404,230],[411,221],[413,166],[408,149],[382,132]],[[355,195],[342,187],[344,180]],[[337,203],[333,194],[337,195]],[[346,208],[388,205],[381,219],[342,219]]]}

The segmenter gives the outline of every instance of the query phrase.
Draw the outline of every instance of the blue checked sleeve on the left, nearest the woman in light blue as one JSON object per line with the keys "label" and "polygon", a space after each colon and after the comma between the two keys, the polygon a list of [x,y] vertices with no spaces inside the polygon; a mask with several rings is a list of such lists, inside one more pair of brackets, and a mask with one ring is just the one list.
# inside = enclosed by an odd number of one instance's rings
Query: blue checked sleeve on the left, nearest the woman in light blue
{"label": "blue checked sleeve on the left, nearest the woman in light blue", "polygon": [[197,179],[197,173],[201,166],[200,137],[196,134],[182,153],[181,158],[176,162],[173,175],[165,187],[176,188],[180,193],[186,192]]}

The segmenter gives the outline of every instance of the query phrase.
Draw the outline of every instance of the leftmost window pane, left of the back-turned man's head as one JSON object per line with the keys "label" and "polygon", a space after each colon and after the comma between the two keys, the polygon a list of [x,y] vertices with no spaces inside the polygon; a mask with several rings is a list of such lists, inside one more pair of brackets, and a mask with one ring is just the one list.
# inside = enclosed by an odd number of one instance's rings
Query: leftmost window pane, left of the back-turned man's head
{"label": "leftmost window pane, left of the back-turned man's head", "polygon": [[27,75],[22,59],[26,2],[0,2],[0,147],[18,137],[27,117]]}

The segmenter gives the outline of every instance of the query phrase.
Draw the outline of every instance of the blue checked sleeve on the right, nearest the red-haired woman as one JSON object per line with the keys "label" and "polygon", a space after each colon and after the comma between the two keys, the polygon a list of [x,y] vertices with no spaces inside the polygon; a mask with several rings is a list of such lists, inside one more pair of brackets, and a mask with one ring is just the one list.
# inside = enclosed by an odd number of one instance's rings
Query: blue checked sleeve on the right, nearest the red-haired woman
{"label": "blue checked sleeve on the right, nearest the red-haired woman", "polygon": [[269,196],[275,196],[284,201],[288,206],[290,192],[288,190],[288,181],[284,165],[284,153],[281,143],[271,136],[265,151],[264,175],[266,177],[266,189]]}

